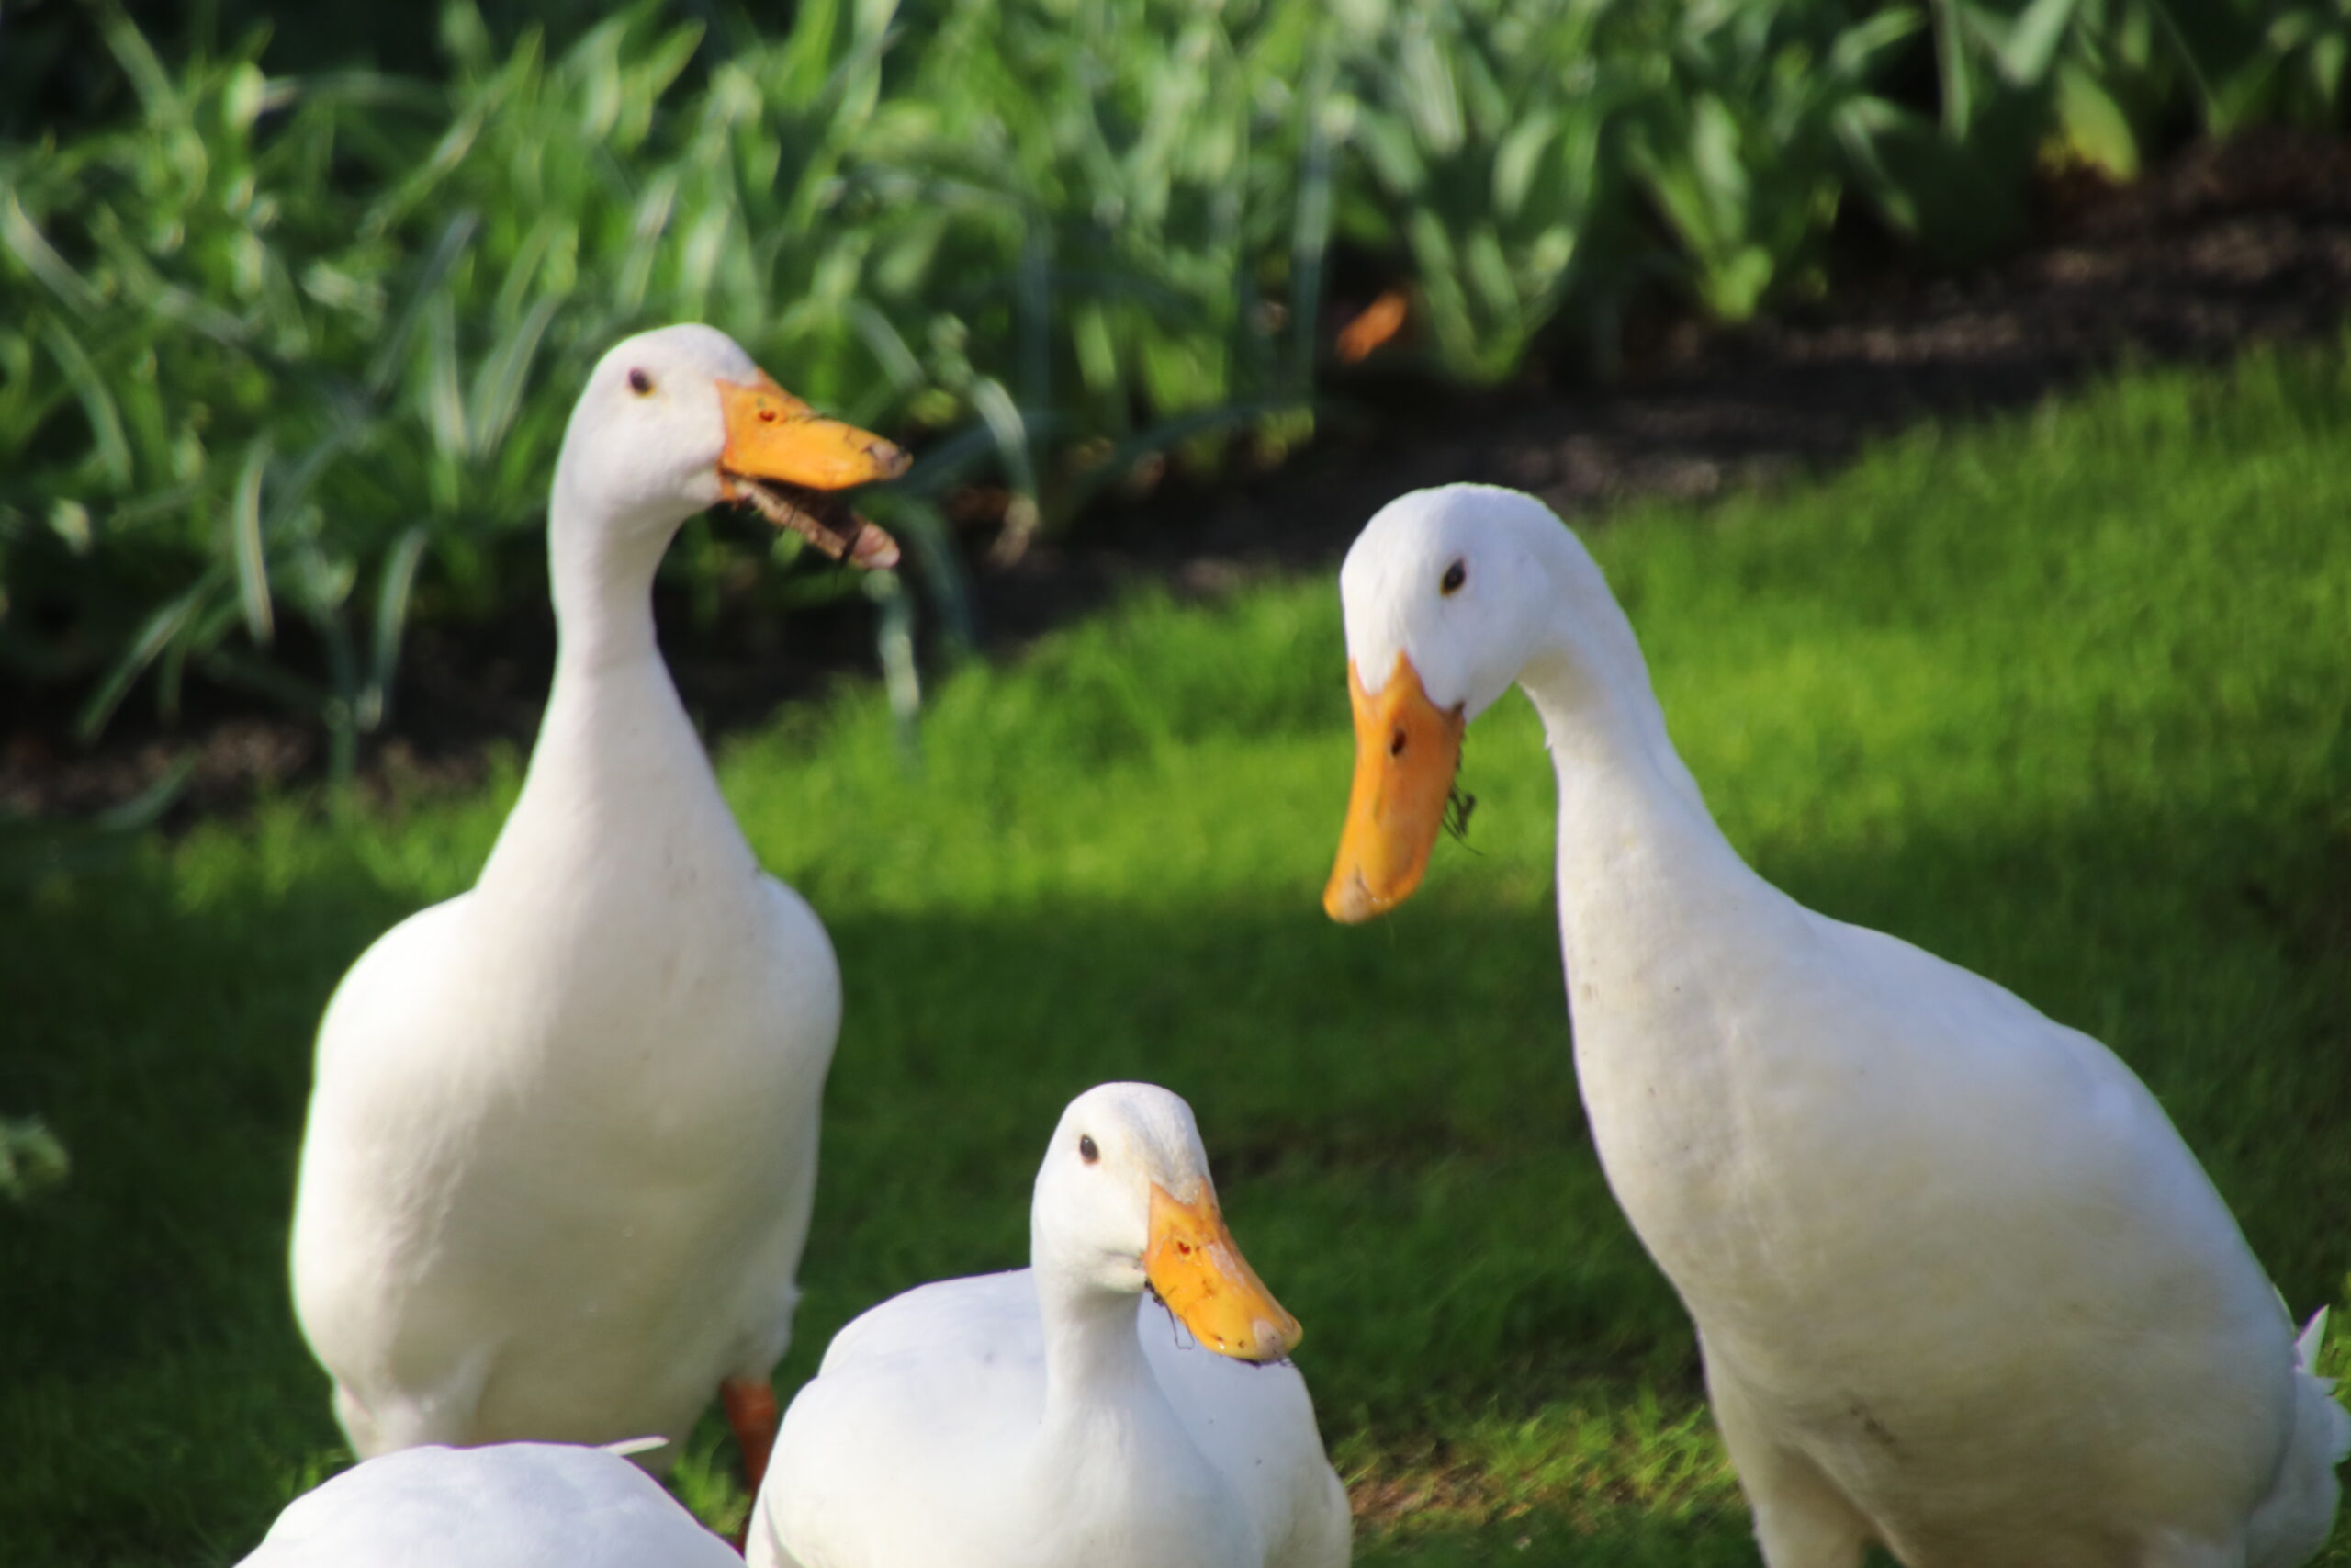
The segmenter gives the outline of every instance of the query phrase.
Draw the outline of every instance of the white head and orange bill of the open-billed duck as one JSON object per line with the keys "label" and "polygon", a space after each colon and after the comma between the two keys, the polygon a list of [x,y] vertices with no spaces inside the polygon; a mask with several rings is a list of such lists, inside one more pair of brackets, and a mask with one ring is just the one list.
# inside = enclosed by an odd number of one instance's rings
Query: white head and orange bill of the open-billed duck
{"label": "white head and orange bill of the open-billed duck", "polygon": [[665,543],[719,501],[773,503],[771,487],[806,496],[900,473],[905,454],[879,435],[818,418],[724,331],[682,324],[639,331],[597,360],[555,487],[560,515]]}

